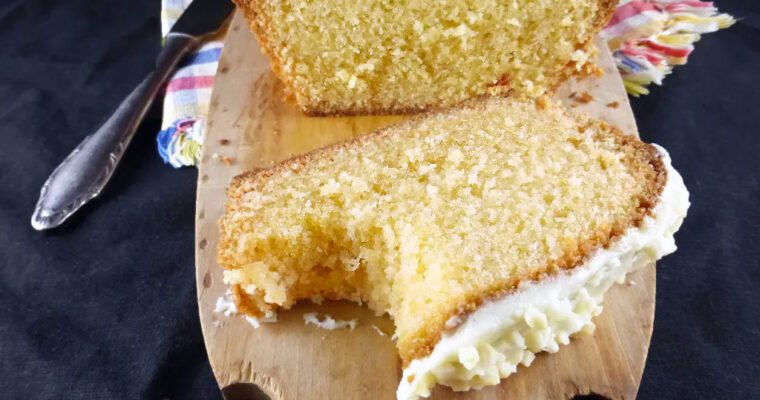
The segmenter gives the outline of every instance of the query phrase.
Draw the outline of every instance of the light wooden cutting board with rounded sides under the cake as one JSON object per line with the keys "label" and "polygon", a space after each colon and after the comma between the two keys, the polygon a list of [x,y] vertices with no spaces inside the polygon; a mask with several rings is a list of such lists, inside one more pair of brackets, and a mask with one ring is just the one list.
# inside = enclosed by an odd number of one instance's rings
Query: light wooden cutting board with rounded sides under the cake
{"label": "light wooden cutting board with rounded sides under the cake", "polygon": [[[570,107],[636,135],[636,124],[614,62],[601,44],[605,75],[567,83],[557,97]],[[570,94],[587,92],[581,103]],[[617,102],[618,106],[608,105]],[[229,30],[211,100],[198,179],[196,276],[198,307],[209,361],[227,399],[394,399],[400,361],[390,339],[393,323],[349,303],[300,304],[279,321],[254,329],[242,317],[214,312],[227,289],[215,261],[217,220],[225,189],[235,175],[369,132],[404,116],[305,117],[283,101],[282,86],[238,13]],[[605,296],[597,330],[541,354],[529,368],[481,391],[454,393],[438,387],[434,399],[564,399],[596,393],[634,398],[652,334],[655,268],[632,274]],[[357,318],[355,331],[305,325],[303,314]],[[381,336],[375,325],[386,333]],[[253,384],[253,385],[251,385]]]}

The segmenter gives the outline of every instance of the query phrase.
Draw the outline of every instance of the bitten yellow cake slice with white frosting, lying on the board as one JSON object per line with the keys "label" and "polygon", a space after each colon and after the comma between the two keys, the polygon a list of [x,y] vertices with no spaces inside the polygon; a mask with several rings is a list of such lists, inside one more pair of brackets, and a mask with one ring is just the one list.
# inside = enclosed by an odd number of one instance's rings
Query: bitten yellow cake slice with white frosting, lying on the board
{"label": "bitten yellow cake slice with white frosting, lying on the board", "polygon": [[218,260],[239,310],[347,299],[393,318],[399,399],[497,384],[593,328],[675,250],[667,153],[547,99],[482,97],[237,177]]}

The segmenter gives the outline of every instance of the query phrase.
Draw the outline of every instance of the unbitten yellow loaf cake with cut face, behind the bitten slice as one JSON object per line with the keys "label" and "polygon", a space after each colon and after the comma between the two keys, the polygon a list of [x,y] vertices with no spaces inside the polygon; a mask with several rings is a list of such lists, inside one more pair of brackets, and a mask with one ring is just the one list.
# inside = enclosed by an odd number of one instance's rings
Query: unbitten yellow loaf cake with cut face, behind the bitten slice
{"label": "unbitten yellow loaf cake with cut face, behind the bitten slice", "polygon": [[234,0],[310,115],[404,113],[594,71],[616,0]]}

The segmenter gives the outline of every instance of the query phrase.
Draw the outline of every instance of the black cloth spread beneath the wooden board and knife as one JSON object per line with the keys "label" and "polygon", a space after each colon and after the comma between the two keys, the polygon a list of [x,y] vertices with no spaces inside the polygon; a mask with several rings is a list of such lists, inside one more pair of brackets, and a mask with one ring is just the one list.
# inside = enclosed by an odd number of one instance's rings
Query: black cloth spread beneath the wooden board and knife
{"label": "black cloth spread beneath the wooden board and knife", "polygon": [[[150,70],[159,3],[0,1],[0,398],[220,398],[195,303],[197,173],[156,154],[160,107],[98,200],[62,229],[29,224],[51,170]],[[718,5],[740,21],[633,101],[693,203],[657,267],[642,399],[760,398],[760,2]]]}

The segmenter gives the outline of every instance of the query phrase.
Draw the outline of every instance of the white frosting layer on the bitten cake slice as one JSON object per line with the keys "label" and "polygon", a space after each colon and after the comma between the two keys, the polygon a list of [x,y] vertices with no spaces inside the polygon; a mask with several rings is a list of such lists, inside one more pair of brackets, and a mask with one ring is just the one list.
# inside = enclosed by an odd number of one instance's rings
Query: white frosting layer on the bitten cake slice
{"label": "white frosting layer on the bitten cake slice", "polygon": [[602,312],[604,292],[613,283],[674,252],[673,234],[686,217],[689,193],[668,153],[655,146],[667,168],[667,182],[653,216],[570,273],[521,285],[516,293],[480,306],[445,334],[429,356],[404,369],[397,398],[428,397],[436,383],[457,391],[498,384],[518,364],[529,366],[536,353],[554,353],[571,335],[593,331],[592,318]]}

